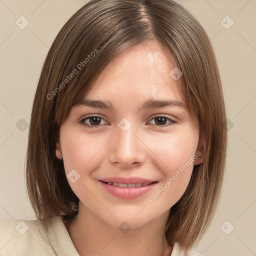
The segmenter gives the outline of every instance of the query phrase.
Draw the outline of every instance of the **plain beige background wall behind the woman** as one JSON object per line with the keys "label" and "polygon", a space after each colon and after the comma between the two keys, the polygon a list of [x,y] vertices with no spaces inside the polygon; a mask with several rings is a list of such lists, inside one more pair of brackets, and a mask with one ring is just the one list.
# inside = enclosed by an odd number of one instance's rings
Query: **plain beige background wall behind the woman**
{"label": "plain beige background wall behind the woman", "polygon": [[[85,2],[0,0],[0,217],[34,219],[24,183],[26,123],[48,48],[65,21]],[[204,256],[252,256],[256,254],[256,0],[177,2],[211,38],[229,119],[222,195],[195,250]],[[24,29],[15,23],[21,15],[29,21]],[[221,24],[226,15],[234,21],[229,29]],[[222,22],[231,24],[228,18]]]}

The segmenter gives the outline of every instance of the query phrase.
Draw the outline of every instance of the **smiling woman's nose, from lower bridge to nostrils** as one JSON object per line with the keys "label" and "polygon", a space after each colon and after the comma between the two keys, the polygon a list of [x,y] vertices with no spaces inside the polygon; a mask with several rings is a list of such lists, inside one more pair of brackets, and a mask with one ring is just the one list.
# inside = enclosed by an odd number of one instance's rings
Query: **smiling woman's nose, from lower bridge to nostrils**
{"label": "smiling woman's nose, from lower bridge to nostrils", "polygon": [[145,161],[145,150],[146,146],[133,125],[126,131],[117,126],[110,142],[108,159],[120,168],[131,168]]}

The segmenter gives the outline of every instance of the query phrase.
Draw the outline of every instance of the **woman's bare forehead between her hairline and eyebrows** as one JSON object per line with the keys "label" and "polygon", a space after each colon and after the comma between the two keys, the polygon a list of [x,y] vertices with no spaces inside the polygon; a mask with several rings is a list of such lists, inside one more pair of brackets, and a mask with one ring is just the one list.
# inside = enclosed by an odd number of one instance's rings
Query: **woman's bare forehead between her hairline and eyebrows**
{"label": "woman's bare forehead between her hairline and eyebrows", "polygon": [[171,76],[173,68],[176,68],[174,58],[155,41],[133,45],[106,65],[84,98],[185,102],[181,79]]}

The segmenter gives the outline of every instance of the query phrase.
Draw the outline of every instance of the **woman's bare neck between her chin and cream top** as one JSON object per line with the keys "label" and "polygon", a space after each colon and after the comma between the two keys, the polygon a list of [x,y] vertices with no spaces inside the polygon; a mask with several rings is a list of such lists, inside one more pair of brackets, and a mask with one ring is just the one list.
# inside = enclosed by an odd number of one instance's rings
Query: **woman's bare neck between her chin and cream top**
{"label": "woman's bare neck between her chin and cream top", "polygon": [[145,226],[121,229],[109,225],[88,208],[80,206],[72,220],[64,221],[80,255],[170,255],[172,246],[168,245],[164,235],[168,212]]}

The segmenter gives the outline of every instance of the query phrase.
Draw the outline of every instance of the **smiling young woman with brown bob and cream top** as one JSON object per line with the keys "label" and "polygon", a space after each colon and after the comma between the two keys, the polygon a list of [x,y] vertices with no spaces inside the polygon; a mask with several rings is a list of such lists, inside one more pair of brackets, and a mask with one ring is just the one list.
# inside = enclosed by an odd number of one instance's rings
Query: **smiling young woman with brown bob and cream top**
{"label": "smiling young woman with brown bob and cream top", "polygon": [[[0,220],[0,255],[197,255],[226,114],[205,31],[172,0],[92,0],[47,54],[26,182],[38,220]],[[30,254],[29,254],[30,253]]]}

